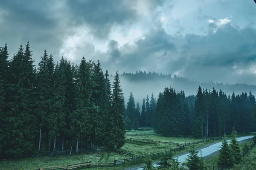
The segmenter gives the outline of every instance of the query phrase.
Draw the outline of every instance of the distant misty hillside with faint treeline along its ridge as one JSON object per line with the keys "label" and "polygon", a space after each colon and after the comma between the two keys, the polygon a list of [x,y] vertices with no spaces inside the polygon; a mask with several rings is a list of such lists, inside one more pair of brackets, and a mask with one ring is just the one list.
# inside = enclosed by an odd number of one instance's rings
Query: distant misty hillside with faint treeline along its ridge
{"label": "distant misty hillside with faint treeline along its ridge", "polygon": [[[112,79],[112,75],[111,75]],[[211,77],[209,76],[209,79]],[[138,102],[142,102],[143,97],[147,95],[150,96],[152,93],[155,97],[159,92],[163,92],[165,86],[175,88],[176,91],[183,90],[188,96],[189,94],[196,94],[198,86],[201,85],[202,88],[207,88],[212,91],[214,87],[217,91],[220,89],[226,94],[241,94],[242,92],[251,91],[253,94],[256,94],[256,85],[247,85],[247,84],[223,84],[221,82],[198,82],[192,81],[189,78],[177,77],[171,74],[159,74],[157,72],[148,72],[145,71],[136,71],[136,73],[123,73],[120,74],[120,81],[124,91],[125,99],[128,99],[130,92],[134,93],[134,98]],[[126,101],[126,100],[125,100]]]}

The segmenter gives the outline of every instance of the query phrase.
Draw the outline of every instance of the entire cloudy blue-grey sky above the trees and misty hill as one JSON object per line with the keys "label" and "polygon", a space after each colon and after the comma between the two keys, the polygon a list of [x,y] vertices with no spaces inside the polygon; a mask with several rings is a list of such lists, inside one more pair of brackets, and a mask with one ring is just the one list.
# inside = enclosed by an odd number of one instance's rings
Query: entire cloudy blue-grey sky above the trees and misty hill
{"label": "entire cloudy blue-grey sky above the trees and misty hill", "polygon": [[253,0],[1,0],[0,45],[31,43],[111,73],[157,71],[199,81],[256,84]]}

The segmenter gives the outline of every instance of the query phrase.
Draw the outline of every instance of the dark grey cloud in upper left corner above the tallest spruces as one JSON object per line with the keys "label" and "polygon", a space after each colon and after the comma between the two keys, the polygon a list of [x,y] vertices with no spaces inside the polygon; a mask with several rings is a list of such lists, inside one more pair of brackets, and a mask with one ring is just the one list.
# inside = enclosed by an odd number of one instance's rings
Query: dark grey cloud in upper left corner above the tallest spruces
{"label": "dark grey cloud in upper left corner above the tallest spruces", "polygon": [[44,53],[45,48],[50,53],[58,54],[58,48],[61,46],[60,34],[63,31],[58,30],[57,21],[49,17],[47,2],[0,1],[0,7],[6,11],[4,22],[1,25],[0,43],[2,46],[7,42],[11,55],[17,51],[21,43],[25,44],[27,40],[32,45],[36,59]]}

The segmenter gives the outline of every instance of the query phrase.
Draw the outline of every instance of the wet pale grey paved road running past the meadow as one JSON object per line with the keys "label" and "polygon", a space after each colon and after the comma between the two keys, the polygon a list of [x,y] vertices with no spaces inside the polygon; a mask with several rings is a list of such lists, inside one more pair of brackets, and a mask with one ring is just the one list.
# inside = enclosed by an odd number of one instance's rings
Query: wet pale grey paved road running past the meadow
{"label": "wet pale grey paved road running past the meadow", "polygon": [[[253,136],[243,136],[243,137],[239,137],[236,139],[237,139],[237,141],[244,141],[246,139],[251,139],[251,138],[253,138]],[[228,140],[228,142],[230,142],[230,140]],[[201,153],[202,153],[202,157],[209,156],[209,155],[216,153],[221,148],[221,144],[222,144],[222,142],[217,142],[214,144],[209,144],[207,147],[200,149]],[[201,153],[199,152],[198,156],[200,156]],[[188,155],[189,155],[189,153],[185,153],[181,156],[178,156],[178,162],[184,162],[186,160],[186,158],[188,158]],[[175,156],[174,158],[177,159],[177,156]],[[143,170],[143,168],[140,168],[142,166],[144,166],[144,165],[140,165],[139,167],[128,168],[126,170]],[[158,165],[156,163],[154,163],[154,167],[157,167],[157,166]]]}

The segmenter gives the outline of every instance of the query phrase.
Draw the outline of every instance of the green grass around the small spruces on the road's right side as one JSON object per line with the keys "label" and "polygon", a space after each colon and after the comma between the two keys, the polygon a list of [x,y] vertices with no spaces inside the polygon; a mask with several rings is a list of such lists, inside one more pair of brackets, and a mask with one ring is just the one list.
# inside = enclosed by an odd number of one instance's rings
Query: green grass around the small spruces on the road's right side
{"label": "green grass around the small spruces on the road's right side", "polygon": [[[246,142],[251,144],[251,142]],[[244,144],[246,144],[244,143]],[[244,144],[240,144],[240,149],[242,150],[242,146]],[[229,170],[256,170],[256,147],[254,147],[252,150],[249,151],[247,156],[242,157],[242,160],[239,164],[235,164],[233,168],[230,168]],[[212,156],[211,158],[205,160],[206,167],[209,170],[212,170],[212,167],[214,166],[217,170],[217,161],[218,161],[218,155]]]}

